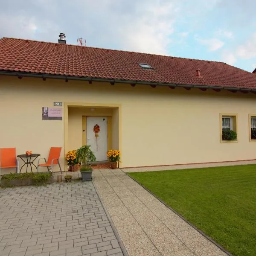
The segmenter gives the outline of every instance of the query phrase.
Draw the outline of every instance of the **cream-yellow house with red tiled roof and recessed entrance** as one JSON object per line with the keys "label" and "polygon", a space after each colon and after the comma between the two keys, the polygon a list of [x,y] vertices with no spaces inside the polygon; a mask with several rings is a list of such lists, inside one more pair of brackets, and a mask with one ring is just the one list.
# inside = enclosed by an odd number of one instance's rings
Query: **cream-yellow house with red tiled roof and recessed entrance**
{"label": "cream-yellow house with red tiled roof and recessed entrance", "polygon": [[64,39],[0,39],[1,148],[47,157],[59,146],[62,168],[85,144],[98,161],[119,149],[121,167],[256,159],[256,74]]}

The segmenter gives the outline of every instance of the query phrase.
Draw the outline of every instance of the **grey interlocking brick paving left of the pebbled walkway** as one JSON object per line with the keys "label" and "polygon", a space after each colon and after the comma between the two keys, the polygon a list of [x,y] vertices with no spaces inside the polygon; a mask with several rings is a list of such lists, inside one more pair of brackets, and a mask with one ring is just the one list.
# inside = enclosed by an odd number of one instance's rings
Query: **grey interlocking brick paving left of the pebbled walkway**
{"label": "grey interlocking brick paving left of the pebbled walkway", "polygon": [[0,189],[0,256],[123,256],[92,182]]}

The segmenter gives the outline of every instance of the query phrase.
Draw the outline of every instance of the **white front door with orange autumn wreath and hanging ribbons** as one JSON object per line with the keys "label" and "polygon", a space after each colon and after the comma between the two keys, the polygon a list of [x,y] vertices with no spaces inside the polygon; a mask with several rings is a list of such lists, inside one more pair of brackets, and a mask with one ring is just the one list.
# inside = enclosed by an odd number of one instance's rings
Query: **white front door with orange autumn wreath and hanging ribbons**
{"label": "white front door with orange autumn wreath and hanging ribbons", "polygon": [[91,145],[96,161],[108,159],[107,117],[87,117],[86,139],[86,144]]}

